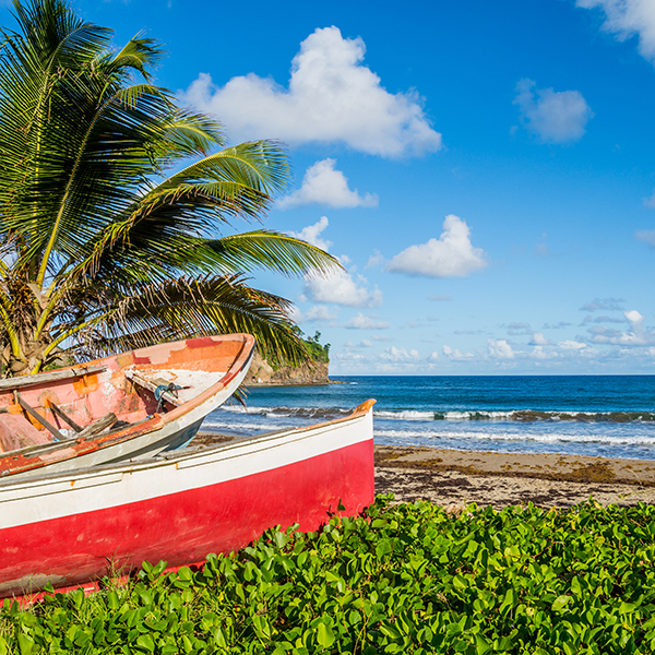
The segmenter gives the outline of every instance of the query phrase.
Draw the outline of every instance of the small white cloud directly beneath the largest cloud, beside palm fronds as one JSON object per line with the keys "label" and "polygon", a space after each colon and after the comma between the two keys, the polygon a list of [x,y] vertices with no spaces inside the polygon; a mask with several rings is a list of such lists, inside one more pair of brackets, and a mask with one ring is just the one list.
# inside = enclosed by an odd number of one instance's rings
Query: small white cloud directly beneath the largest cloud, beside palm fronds
{"label": "small white cloud directly beneath the largest cloud, beside palm fronds", "polygon": [[318,203],[331,207],[376,207],[378,196],[371,193],[359,195],[348,189],[348,180],[341,170],[335,170],[335,159],[323,159],[310,166],[302,179],[302,186],[277,203],[277,209],[288,210],[300,205]]}

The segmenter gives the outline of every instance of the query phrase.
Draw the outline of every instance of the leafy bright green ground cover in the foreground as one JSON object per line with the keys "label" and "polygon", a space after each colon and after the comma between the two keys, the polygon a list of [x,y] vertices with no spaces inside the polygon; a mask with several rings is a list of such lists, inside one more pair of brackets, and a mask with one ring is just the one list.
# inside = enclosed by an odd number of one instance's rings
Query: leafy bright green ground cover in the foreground
{"label": "leafy bright green ground cover in the foreground", "polygon": [[0,610],[0,654],[655,652],[655,508],[458,515],[379,497],[204,570]]}

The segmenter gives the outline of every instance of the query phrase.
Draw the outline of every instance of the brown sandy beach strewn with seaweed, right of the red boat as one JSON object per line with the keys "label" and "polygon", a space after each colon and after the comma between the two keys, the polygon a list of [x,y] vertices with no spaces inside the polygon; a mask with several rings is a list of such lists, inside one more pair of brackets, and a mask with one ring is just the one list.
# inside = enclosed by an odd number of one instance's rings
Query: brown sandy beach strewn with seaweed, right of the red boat
{"label": "brown sandy beach strewn with seaweed, right of the red boat", "polygon": [[655,502],[655,461],[376,446],[376,492],[457,509]]}

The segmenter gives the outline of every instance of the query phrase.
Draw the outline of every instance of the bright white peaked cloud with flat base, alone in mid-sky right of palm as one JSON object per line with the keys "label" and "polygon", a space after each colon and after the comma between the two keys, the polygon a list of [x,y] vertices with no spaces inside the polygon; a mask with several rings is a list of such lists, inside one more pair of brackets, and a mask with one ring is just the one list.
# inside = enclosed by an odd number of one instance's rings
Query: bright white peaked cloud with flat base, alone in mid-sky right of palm
{"label": "bright white peaked cloud with flat base, alone in mid-sky right of palm", "polygon": [[462,218],[450,214],[443,222],[439,239],[409,246],[388,264],[392,273],[424,275],[426,277],[463,277],[487,265],[481,248],[474,248],[471,230]]}

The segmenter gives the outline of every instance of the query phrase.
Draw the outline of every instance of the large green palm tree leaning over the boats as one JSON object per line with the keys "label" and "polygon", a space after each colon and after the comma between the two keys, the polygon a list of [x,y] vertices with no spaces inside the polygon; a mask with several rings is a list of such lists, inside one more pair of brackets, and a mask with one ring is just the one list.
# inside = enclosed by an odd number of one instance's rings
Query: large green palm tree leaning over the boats
{"label": "large green palm tree leaning over the boats", "polygon": [[[289,180],[282,144],[225,147],[221,124],[152,82],[160,47],[64,0],[14,0],[0,46],[0,359],[7,374],[196,334],[242,331],[296,358],[290,303],[258,267],[338,263],[284,234],[221,237]],[[217,150],[223,148],[223,150]]]}

